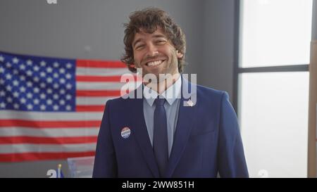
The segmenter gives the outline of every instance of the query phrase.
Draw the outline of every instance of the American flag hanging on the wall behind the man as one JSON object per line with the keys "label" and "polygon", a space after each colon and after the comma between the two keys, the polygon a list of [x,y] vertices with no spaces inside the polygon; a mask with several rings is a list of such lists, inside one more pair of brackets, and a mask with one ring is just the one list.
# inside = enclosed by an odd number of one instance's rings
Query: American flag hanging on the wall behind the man
{"label": "American flag hanging on the wall behind the man", "polygon": [[104,105],[126,73],[120,61],[0,52],[0,161],[94,155]]}

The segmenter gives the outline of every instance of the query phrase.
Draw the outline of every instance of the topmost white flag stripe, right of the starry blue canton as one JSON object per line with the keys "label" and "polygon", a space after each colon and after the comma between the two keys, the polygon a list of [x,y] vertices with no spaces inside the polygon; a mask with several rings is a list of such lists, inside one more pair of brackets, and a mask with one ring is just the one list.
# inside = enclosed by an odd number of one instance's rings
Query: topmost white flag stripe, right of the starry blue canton
{"label": "topmost white flag stripe, right of the starry blue canton", "polygon": [[128,68],[76,68],[76,75],[84,76],[121,76],[126,73],[133,74]]}

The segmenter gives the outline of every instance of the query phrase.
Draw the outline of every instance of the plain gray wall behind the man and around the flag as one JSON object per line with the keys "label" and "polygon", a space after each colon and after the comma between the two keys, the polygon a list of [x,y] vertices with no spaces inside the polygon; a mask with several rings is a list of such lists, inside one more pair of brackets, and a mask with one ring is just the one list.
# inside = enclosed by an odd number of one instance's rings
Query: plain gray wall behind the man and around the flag
{"label": "plain gray wall behind the man and around the flag", "polygon": [[[234,0],[0,1],[0,51],[61,58],[118,60],[130,12],[158,6],[187,37],[185,73],[232,98]],[[0,177],[46,177],[65,160],[0,163]]]}

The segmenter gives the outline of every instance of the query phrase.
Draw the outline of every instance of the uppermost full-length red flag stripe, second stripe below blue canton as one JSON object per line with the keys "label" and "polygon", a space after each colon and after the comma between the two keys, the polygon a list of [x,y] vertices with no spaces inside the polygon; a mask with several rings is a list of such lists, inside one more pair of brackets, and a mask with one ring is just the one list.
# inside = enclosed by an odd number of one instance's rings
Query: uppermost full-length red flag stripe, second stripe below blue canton
{"label": "uppermost full-length red flag stripe, second stripe below blue canton", "polygon": [[35,127],[35,128],[79,128],[99,127],[101,121],[33,121],[33,120],[0,120],[1,127]]}

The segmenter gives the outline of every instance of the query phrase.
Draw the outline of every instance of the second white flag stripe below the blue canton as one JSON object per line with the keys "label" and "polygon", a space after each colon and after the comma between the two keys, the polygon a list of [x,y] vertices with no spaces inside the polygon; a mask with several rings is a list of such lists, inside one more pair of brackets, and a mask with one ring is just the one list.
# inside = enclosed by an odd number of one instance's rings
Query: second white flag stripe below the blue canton
{"label": "second white flag stripe below the blue canton", "polygon": [[97,136],[99,127],[94,128],[50,128],[34,129],[32,127],[1,127],[0,136]]}

